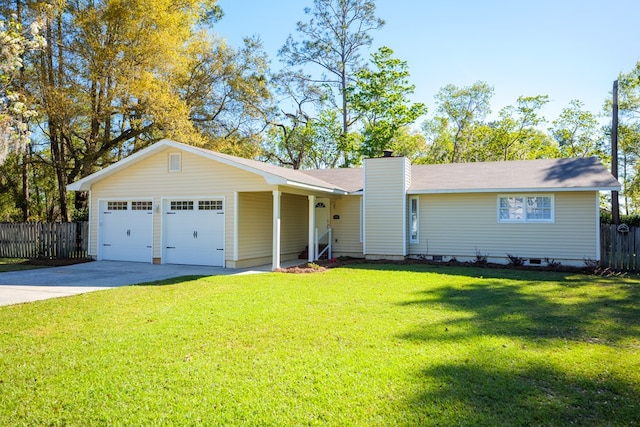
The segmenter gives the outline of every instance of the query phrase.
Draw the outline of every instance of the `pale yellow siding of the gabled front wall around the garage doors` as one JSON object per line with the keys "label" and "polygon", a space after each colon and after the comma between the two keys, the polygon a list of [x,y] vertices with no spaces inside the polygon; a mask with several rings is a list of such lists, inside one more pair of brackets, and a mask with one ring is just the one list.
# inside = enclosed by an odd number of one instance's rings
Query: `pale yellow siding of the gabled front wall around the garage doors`
{"label": "pale yellow siding of the gabled front wall around the garage doors", "polygon": [[[90,255],[97,255],[98,201],[100,199],[153,198],[159,207],[162,197],[223,197],[225,201],[225,254],[233,256],[233,193],[234,191],[269,191],[272,186],[255,174],[222,163],[182,152],[182,170],[169,172],[167,149],[109,176],[91,189],[91,247]],[[160,258],[161,215],[154,213],[153,257]],[[268,227],[269,233],[271,226]]]}

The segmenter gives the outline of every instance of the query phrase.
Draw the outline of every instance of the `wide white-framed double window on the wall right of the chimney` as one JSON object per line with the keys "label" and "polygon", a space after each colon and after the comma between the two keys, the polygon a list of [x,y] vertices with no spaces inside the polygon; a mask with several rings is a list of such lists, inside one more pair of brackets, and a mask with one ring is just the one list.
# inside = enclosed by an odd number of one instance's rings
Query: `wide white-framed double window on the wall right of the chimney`
{"label": "wide white-framed double window on the wall right of the chimney", "polygon": [[498,222],[553,222],[553,195],[498,196]]}

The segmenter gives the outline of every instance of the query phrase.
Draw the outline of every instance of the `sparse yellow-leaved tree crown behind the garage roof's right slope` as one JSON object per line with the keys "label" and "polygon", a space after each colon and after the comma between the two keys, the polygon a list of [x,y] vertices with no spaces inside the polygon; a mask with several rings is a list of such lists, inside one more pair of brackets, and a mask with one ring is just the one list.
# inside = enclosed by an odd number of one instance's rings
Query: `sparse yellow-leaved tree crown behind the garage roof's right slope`
{"label": "sparse yellow-leaved tree crown behind the garage roof's right slope", "polygon": [[222,39],[200,34],[189,45],[187,57],[187,72],[176,85],[204,146],[257,157],[265,117],[274,109],[262,42],[246,38],[235,49]]}

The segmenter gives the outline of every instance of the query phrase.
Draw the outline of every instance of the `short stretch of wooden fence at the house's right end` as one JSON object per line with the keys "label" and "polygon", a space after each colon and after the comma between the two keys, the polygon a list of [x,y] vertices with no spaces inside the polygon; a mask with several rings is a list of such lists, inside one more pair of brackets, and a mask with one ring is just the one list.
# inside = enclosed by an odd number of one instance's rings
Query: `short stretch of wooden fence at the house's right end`
{"label": "short stretch of wooden fence at the house's right end", "polygon": [[640,227],[600,224],[600,258],[612,270],[640,271]]}

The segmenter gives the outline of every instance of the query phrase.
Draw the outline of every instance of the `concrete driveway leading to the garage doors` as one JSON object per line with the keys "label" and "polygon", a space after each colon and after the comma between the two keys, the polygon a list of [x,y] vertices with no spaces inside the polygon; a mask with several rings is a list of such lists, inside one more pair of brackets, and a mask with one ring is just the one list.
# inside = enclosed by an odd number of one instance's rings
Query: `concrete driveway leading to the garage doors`
{"label": "concrete driveway leading to the garage doors", "polygon": [[270,266],[236,270],[193,265],[93,261],[64,267],[0,273],[0,306],[82,294],[179,276],[216,276],[270,271]]}

